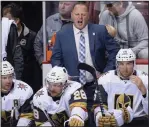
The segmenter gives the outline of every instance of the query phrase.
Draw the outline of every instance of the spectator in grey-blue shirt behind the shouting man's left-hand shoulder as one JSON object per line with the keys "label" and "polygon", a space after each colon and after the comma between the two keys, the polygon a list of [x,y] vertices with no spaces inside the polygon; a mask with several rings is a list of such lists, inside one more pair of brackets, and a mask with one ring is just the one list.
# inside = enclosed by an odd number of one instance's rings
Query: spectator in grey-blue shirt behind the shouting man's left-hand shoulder
{"label": "spectator in grey-blue shirt behind the shouting man's left-hand shoulder", "polygon": [[[61,27],[71,22],[71,10],[76,2],[59,2],[59,13],[49,16],[46,19],[46,36],[47,42],[51,37],[61,29]],[[35,56],[39,65],[43,61],[43,27],[38,31],[34,41]]]}

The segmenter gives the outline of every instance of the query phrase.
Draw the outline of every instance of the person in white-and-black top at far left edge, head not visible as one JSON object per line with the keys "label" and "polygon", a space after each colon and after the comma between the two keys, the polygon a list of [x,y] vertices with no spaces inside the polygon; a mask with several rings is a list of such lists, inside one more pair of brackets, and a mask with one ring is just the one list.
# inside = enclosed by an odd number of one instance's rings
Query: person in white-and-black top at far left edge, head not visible
{"label": "person in white-and-black top at far left edge, head not visible", "polygon": [[23,55],[18,44],[17,27],[14,20],[2,17],[2,61],[9,61],[15,69],[16,79],[21,79],[23,73]]}

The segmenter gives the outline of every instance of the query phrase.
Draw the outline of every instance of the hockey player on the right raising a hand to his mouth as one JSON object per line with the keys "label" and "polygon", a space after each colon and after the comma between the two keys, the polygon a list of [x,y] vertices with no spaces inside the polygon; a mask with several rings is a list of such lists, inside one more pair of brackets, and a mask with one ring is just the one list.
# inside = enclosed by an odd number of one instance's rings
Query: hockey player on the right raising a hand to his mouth
{"label": "hockey player on the right raising a hand to his mouth", "polygon": [[106,95],[107,109],[105,117],[100,107],[94,110],[96,125],[103,127],[109,122],[111,127],[147,127],[148,75],[136,70],[136,57],[131,49],[120,49],[116,60],[117,69],[98,80],[102,95]]}

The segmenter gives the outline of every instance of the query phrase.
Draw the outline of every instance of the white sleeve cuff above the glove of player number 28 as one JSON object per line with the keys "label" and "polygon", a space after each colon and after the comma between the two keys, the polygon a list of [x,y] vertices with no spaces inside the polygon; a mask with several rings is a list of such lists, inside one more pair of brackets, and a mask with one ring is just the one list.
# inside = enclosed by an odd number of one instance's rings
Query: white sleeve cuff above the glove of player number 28
{"label": "white sleeve cuff above the glove of player number 28", "polygon": [[85,121],[88,118],[88,113],[80,107],[74,107],[71,111],[71,116],[72,115],[80,116],[83,121]]}

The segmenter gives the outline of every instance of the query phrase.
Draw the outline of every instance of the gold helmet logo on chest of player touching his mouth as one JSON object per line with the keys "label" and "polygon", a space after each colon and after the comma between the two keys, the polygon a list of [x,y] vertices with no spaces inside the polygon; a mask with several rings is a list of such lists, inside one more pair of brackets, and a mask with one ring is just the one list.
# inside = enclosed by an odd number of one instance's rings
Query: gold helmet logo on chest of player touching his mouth
{"label": "gold helmet logo on chest of player touching his mouth", "polygon": [[114,108],[120,109],[130,106],[133,109],[133,95],[115,94]]}

